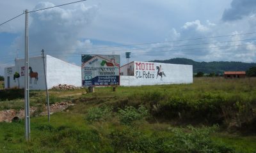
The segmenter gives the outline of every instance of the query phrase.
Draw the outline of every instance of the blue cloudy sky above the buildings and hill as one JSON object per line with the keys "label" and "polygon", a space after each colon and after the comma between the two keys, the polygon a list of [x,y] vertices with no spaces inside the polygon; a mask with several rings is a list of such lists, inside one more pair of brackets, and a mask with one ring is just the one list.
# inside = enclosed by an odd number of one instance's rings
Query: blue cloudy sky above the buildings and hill
{"label": "blue cloudy sky above the buildings and hill", "polygon": [[[0,1],[0,24],[72,0]],[[0,25],[0,75],[24,58],[25,15]],[[88,0],[29,13],[29,57],[52,55],[81,65],[81,54],[127,61],[177,57],[256,62],[255,0]]]}

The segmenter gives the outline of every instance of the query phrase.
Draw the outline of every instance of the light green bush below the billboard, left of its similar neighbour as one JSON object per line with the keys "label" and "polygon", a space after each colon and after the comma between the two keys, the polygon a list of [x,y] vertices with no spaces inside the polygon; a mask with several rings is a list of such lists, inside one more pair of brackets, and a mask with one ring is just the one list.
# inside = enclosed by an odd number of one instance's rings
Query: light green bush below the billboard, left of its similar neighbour
{"label": "light green bush below the billboard, left of its similar neighbour", "polygon": [[112,110],[113,107],[107,105],[92,107],[86,115],[86,120],[89,122],[108,120],[112,116]]}

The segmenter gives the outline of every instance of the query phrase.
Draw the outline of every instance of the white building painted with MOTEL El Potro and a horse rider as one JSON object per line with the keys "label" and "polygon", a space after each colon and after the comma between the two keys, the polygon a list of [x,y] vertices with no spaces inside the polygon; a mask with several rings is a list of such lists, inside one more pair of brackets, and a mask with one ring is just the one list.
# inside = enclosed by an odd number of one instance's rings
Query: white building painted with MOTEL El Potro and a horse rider
{"label": "white building painted with MOTEL El Potro and a horse rider", "polygon": [[130,62],[120,67],[120,85],[161,85],[193,83],[193,66],[159,62]]}

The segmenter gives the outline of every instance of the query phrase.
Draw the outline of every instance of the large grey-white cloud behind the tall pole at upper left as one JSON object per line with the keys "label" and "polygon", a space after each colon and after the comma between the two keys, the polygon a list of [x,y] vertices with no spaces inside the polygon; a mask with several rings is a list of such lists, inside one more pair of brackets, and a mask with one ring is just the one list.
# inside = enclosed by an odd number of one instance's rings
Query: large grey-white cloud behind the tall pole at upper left
{"label": "large grey-white cloud behind the tall pole at upper left", "polygon": [[[38,3],[34,10],[52,7],[49,2]],[[76,52],[74,48],[88,47],[90,40],[84,40],[88,29],[97,15],[97,6],[77,4],[76,8],[52,8],[30,13],[29,50],[30,55],[40,55],[44,48],[46,54],[63,58],[63,54]],[[24,48],[23,37],[13,42],[12,48]]]}

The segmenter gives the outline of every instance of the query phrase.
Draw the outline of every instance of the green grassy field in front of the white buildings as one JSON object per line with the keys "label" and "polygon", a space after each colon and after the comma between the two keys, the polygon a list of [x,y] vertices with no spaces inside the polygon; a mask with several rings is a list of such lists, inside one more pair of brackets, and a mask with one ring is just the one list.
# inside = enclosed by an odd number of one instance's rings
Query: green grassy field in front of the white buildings
{"label": "green grassy field in front of the white buildings", "polygon": [[[0,123],[0,152],[256,152],[256,79],[195,78],[193,84],[50,91],[76,105],[47,117]],[[15,93],[13,95],[13,93]],[[22,90],[0,92],[0,110],[24,105]],[[31,105],[45,103],[31,91]]]}

